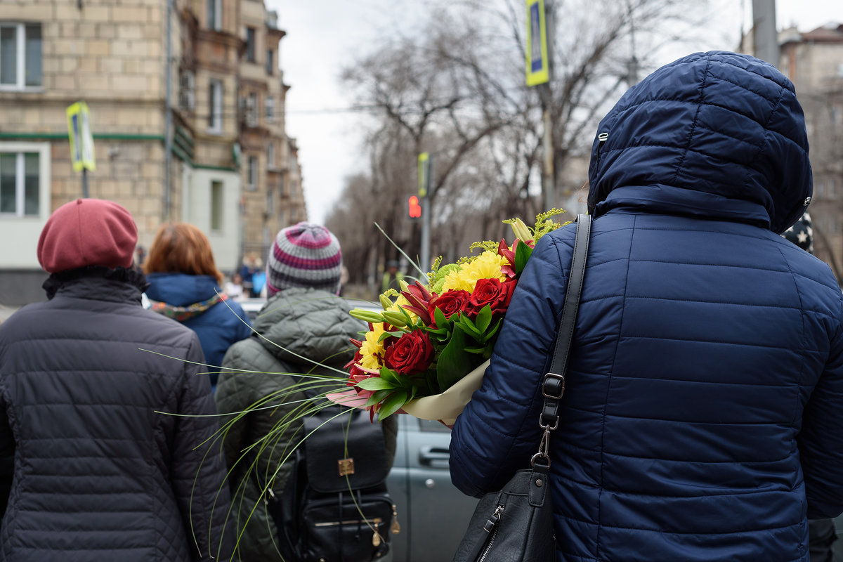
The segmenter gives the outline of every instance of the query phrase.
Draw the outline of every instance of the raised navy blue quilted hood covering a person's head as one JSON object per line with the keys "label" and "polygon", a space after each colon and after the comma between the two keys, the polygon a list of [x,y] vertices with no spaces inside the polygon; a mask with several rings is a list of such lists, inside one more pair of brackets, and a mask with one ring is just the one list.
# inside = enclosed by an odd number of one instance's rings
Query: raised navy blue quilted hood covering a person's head
{"label": "raised navy blue quilted hood covering a person's head", "polygon": [[813,193],[793,84],[766,62],[726,51],[659,68],[600,122],[588,180],[595,217],[633,206],[782,233]]}

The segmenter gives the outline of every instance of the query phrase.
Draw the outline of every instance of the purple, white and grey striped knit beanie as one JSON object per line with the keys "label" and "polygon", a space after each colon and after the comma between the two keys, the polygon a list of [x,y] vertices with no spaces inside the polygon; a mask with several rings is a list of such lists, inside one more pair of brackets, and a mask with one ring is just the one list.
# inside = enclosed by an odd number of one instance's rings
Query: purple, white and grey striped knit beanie
{"label": "purple, white and grey striped knit beanie", "polygon": [[278,232],[266,259],[269,297],[293,286],[339,294],[341,277],[340,241],[330,230],[299,222]]}

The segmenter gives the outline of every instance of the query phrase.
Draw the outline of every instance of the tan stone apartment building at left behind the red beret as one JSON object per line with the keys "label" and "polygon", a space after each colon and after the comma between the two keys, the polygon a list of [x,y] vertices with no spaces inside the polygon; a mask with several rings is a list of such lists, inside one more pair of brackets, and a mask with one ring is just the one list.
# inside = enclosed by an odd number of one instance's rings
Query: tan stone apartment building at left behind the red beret
{"label": "tan stone apartment building at left behind the red beret", "polygon": [[[132,211],[139,244],[148,248],[162,222],[192,222],[211,239],[217,265],[234,270],[246,248],[262,249],[263,230],[287,224],[292,201],[282,198],[281,183],[301,172],[287,158],[277,16],[262,0],[173,0],[168,45],[167,4],[3,0],[0,235],[15,242],[0,252],[0,302],[43,298],[38,235],[53,210],[83,195],[65,113],[79,100],[89,105],[94,133],[89,195]],[[244,64],[248,28],[267,47],[259,69]],[[260,116],[266,133],[257,138],[255,127],[243,126],[244,81],[273,97],[264,101],[271,114]],[[262,156],[257,169],[252,155]],[[306,217],[302,208],[296,213]],[[255,224],[261,232],[247,227]]]}

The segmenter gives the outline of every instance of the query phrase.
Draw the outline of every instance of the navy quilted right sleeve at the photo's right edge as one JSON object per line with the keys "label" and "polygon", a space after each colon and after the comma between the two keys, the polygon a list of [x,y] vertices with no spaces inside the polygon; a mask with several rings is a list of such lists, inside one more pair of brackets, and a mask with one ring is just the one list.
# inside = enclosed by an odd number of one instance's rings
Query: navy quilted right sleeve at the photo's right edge
{"label": "navy quilted right sleeve at the photo's right edge", "polygon": [[[843,302],[843,297],[840,297]],[[843,512],[843,330],[838,315],[830,340],[829,362],[803,413],[799,456],[805,478],[808,518],[837,517]]]}

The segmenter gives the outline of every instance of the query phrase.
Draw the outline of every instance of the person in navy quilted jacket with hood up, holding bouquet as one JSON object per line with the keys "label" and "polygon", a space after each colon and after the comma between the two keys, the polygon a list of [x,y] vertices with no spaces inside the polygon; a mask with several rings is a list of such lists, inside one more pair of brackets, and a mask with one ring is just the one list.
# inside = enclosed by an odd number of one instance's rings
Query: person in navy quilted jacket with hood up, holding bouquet
{"label": "person in navy quilted jacket with hood up, holding bouquet", "polygon": [[[585,285],[550,437],[556,559],[808,562],[843,511],[843,297],[781,238],[812,194],[792,83],[696,53],[631,88],[592,147]],[[496,490],[540,441],[575,227],[536,245],[451,475]]]}

